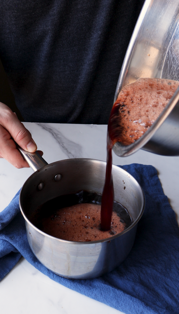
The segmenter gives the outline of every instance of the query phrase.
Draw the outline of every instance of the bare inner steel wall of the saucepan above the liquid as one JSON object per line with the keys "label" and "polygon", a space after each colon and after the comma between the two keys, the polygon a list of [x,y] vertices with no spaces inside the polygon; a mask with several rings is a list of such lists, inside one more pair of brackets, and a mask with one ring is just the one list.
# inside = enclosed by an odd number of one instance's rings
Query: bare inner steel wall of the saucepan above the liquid
{"label": "bare inner steel wall of the saucepan above the liquid", "polygon": [[[20,208],[25,219],[45,202],[79,191],[102,194],[106,163],[91,159],[70,159],[55,162],[36,171],[25,182],[20,193]],[[55,176],[61,174],[61,180]],[[113,166],[114,200],[127,208],[135,222],[144,209],[144,194],[138,182],[123,169]],[[124,189],[125,182],[125,189]],[[39,190],[39,184],[43,188]]]}

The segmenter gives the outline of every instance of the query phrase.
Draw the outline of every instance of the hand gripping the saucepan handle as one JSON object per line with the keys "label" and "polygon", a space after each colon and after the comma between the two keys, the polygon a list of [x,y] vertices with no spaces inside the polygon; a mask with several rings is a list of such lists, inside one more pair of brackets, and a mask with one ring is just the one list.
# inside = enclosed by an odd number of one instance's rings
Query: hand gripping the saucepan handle
{"label": "hand gripping the saucepan handle", "polygon": [[29,167],[14,141],[31,153],[37,149],[30,132],[18,120],[15,112],[0,102],[0,158],[5,158],[16,168]]}

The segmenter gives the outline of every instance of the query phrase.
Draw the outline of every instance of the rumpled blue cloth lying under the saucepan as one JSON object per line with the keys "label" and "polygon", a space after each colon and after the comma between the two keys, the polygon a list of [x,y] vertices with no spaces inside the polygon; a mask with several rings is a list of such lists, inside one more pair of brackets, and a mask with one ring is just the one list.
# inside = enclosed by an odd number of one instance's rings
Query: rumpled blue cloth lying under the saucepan
{"label": "rumpled blue cloth lying under the saucepan", "polygon": [[0,213],[0,278],[24,256],[42,273],[64,286],[126,314],[179,313],[179,228],[153,166],[125,165],[140,183],[146,200],[134,246],[125,261],[96,279],[60,277],[32,253],[20,213],[19,192]]}

